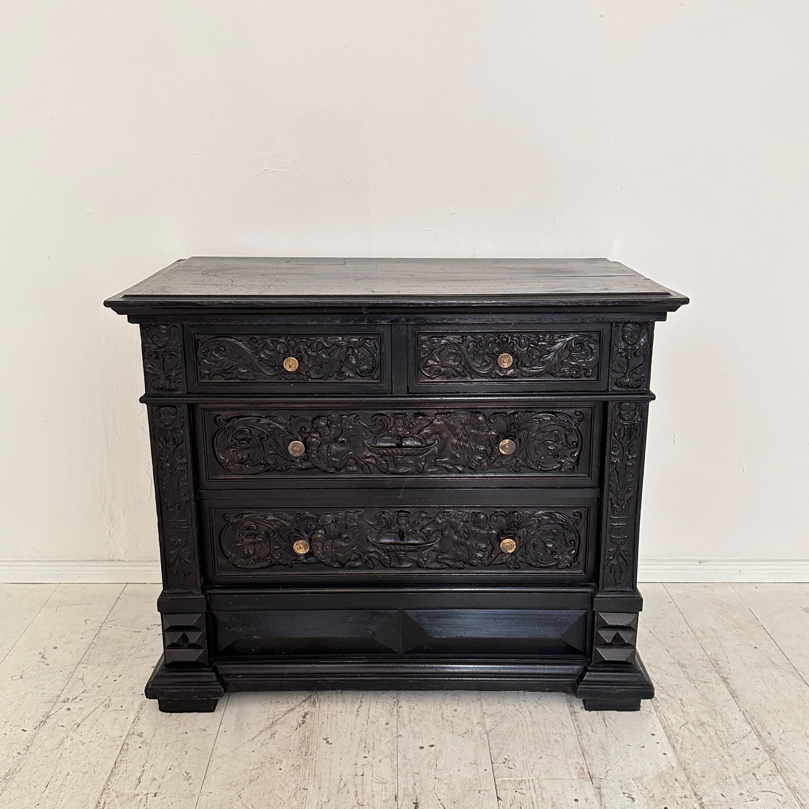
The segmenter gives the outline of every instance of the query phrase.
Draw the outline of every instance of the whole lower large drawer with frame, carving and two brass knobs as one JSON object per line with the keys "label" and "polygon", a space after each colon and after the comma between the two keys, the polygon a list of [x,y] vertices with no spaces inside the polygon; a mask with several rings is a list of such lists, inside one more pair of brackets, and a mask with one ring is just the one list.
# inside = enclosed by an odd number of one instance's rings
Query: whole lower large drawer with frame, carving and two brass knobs
{"label": "whole lower large drawer with frame, carving and two brass knobs", "polygon": [[325,497],[324,489],[317,505],[305,491],[296,498],[209,493],[202,505],[209,580],[404,576],[426,583],[447,574],[590,580],[598,511],[593,490],[485,491],[403,498],[397,491],[366,490],[346,498]]}

